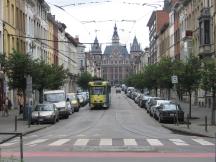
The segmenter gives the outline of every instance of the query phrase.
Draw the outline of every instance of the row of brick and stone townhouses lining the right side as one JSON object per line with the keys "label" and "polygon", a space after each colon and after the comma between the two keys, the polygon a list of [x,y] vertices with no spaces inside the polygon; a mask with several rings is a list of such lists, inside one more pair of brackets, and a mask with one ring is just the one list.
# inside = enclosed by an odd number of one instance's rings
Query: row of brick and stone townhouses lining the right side
{"label": "row of brick and stone townhouses lining the right side", "polygon": [[[147,24],[148,64],[157,63],[164,56],[183,61],[190,54],[200,59],[215,58],[215,13],[215,0],[165,0],[163,9],[154,11]],[[211,107],[211,94],[197,90],[193,103]]]}

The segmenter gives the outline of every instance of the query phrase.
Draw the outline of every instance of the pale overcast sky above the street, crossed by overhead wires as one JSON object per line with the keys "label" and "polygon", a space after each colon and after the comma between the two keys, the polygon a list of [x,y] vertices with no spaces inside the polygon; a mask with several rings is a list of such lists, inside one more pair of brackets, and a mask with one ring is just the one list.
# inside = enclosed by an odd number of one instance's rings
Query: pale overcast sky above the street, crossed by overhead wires
{"label": "pale overcast sky above the street, crossed by overhead wires", "polygon": [[[56,20],[65,23],[66,31],[78,36],[81,43],[93,43],[97,36],[104,50],[112,41],[116,23],[120,43],[130,48],[134,36],[142,49],[149,46],[147,22],[152,11],[163,6],[160,0],[46,0]],[[145,5],[143,5],[146,3]],[[71,6],[66,6],[71,4]],[[62,6],[58,8],[57,6]],[[89,46],[86,45],[86,51]]]}

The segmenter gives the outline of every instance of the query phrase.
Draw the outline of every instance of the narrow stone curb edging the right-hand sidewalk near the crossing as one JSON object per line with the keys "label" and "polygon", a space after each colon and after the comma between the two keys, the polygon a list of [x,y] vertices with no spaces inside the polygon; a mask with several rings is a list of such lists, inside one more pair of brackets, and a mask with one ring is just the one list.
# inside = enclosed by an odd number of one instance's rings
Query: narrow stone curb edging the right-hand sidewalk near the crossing
{"label": "narrow stone curb edging the right-hand sidewalk near the crossing", "polygon": [[178,129],[178,128],[174,128],[174,127],[169,127],[167,125],[161,124],[162,127],[169,129],[173,132],[179,133],[179,134],[185,134],[185,135],[190,135],[190,136],[199,136],[199,137],[209,137],[209,138],[215,138],[213,136],[209,136],[206,134],[201,134],[201,133],[197,133],[197,132],[193,132],[191,129],[186,131],[186,130],[182,130],[182,129]]}

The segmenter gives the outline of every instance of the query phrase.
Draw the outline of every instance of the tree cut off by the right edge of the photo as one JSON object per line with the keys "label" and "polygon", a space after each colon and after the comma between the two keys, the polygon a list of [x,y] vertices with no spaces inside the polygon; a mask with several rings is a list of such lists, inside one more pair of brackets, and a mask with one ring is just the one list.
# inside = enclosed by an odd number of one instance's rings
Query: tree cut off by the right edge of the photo
{"label": "tree cut off by the right edge of the photo", "polygon": [[211,124],[215,125],[216,109],[216,62],[215,60],[204,60],[202,68],[202,88],[212,92],[213,106],[211,110]]}

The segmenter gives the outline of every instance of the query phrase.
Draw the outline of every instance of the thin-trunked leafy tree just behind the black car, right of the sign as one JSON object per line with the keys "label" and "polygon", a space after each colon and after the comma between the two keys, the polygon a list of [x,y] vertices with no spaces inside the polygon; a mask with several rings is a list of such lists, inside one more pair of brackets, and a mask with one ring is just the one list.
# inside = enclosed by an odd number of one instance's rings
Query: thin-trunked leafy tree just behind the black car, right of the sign
{"label": "thin-trunked leafy tree just behind the black car, right of the sign", "polygon": [[190,55],[183,65],[183,75],[179,76],[180,86],[189,94],[189,118],[191,118],[191,95],[199,87],[201,62],[198,57]]}

